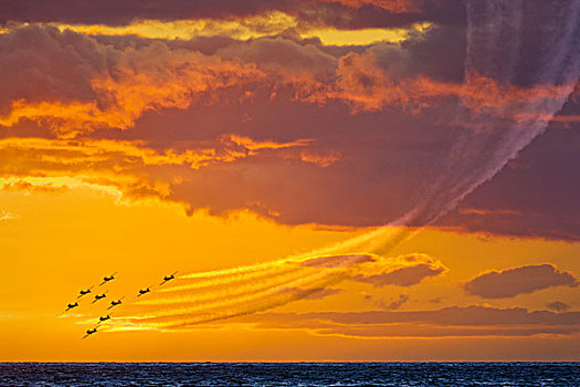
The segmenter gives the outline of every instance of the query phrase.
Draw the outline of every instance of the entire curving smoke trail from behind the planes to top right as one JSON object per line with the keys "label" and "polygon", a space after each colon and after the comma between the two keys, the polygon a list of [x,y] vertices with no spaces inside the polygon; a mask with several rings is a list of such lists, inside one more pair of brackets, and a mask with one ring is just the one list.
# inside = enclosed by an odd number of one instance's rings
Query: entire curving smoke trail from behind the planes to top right
{"label": "entire curving smoke trail from behind the planes to top right", "polygon": [[[545,130],[580,74],[580,0],[466,0],[466,14],[464,87],[472,93],[465,93],[458,107],[461,135],[411,211],[309,254],[182,276],[183,284],[134,305],[137,311],[117,328],[177,327],[255,313],[352,278],[369,261],[386,270],[400,265],[372,254],[386,254],[495,176]],[[500,103],[484,103],[488,85],[479,83],[482,76],[495,81]],[[525,92],[514,97],[514,87]],[[482,97],[473,100],[473,91]],[[333,254],[348,255],[328,257]],[[302,291],[288,292],[288,286]]]}

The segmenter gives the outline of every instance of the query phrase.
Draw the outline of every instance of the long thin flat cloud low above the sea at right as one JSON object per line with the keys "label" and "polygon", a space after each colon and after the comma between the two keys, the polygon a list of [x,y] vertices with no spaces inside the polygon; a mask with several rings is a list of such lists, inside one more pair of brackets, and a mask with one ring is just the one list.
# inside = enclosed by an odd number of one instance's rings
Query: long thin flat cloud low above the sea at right
{"label": "long thin flat cloud low above the sea at right", "polygon": [[350,337],[532,336],[578,333],[580,313],[471,305],[435,311],[262,313],[234,322]]}

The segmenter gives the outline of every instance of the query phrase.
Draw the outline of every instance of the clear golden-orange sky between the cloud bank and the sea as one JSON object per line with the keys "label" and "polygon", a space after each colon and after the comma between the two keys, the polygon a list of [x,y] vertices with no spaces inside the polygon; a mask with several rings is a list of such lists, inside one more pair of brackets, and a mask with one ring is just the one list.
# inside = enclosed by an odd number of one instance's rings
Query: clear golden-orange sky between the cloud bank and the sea
{"label": "clear golden-orange sky between the cloud bank and the sea", "polygon": [[[236,318],[176,332],[103,332],[81,339],[105,306],[84,300],[82,316],[63,317],[77,291],[118,271],[106,286],[109,296],[133,294],[157,284],[173,270],[180,273],[229,269],[308,251],[348,238],[349,232],[284,227],[239,213],[229,219],[184,216],[176,206],[155,201],[123,203],[110,194],[88,188],[64,192],[3,192],[2,203],[14,219],[0,222],[6,275],[2,297],[2,360],[412,360],[412,359],[567,359],[576,338],[537,334],[524,337],[484,336],[357,337],[324,334],[313,327],[260,327],[261,317]],[[340,293],[321,300],[289,303],[265,313],[358,312],[378,304],[410,300],[398,311],[433,311],[450,306],[485,305],[542,310],[553,300],[578,307],[578,290],[553,287],[509,300],[482,302],[465,295],[461,283],[489,268],[497,270],[551,262],[562,270],[580,270],[577,243],[513,240],[425,230],[392,254],[423,252],[449,272],[413,286],[347,281]],[[179,280],[178,280],[179,281]],[[72,312],[76,312],[72,311]],[[113,315],[115,316],[115,315]],[[422,326],[422,324],[421,324]],[[431,326],[431,328],[430,328]],[[521,328],[516,324],[513,328]],[[536,327],[536,325],[531,325]],[[497,330],[494,326],[493,330]],[[416,332],[414,332],[416,331]],[[305,352],[305,348],[308,348]],[[500,353],[499,353],[500,352]]]}

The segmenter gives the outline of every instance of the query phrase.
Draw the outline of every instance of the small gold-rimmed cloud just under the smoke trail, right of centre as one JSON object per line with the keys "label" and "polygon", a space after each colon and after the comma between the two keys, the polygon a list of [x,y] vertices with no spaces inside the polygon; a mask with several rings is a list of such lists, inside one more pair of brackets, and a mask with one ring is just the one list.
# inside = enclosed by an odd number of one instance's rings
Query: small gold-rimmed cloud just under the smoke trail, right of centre
{"label": "small gold-rimmed cloud just under the smoke trail, right of centre", "polygon": [[[404,261],[405,266],[380,274],[360,274],[355,280],[371,283],[376,287],[384,285],[412,286],[421,281],[449,271],[440,261],[421,253],[401,255],[397,259]],[[407,300],[405,300],[407,301]]]}

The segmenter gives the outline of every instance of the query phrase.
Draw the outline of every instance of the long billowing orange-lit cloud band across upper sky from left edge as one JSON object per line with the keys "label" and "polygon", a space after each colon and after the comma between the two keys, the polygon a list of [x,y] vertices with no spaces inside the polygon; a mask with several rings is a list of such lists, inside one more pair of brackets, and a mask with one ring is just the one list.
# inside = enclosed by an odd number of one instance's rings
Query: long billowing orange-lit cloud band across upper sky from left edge
{"label": "long billowing orange-lit cloud band across upper sky from left edge", "polygon": [[[38,43],[14,50],[29,40]],[[68,137],[98,128],[134,127],[147,111],[187,109],[217,101],[239,104],[259,92],[276,97],[285,90],[294,91],[295,100],[339,101],[355,113],[388,106],[416,112],[437,100],[460,98],[472,109],[497,114],[559,93],[558,87],[544,86],[500,90],[477,74],[470,74],[465,85],[423,75],[397,77],[377,65],[372,52],[341,56],[331,76],[335,57],[316,45],[285,39],[265,38],[205,55],[164,41],[119,50],[72,31],[32,25],[0,35],[0,52],[4,51],[9,54],[0,62],[2,73],[18,76],[8,80],[0,101],[7,112],[0,125],[31,119]],[[282,54],[287,59],[280,60]],[[39,61],[33,57],[44,59],[42,69],[36,69]]]}

